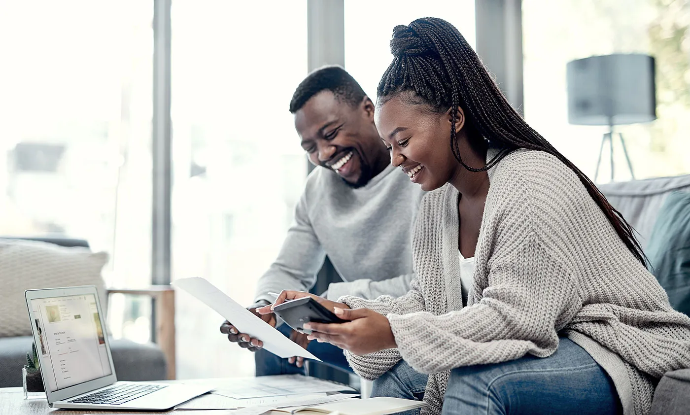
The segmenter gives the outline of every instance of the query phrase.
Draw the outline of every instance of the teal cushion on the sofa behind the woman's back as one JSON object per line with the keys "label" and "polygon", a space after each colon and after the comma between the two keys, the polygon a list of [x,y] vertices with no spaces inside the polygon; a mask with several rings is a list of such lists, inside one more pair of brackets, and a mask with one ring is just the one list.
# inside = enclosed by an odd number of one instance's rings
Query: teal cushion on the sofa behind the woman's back
{"label": "teal cushion on the sofa behind the woman's back", "polygon": [[666,198],[649,237],[647,258],[671,306],[690,316],[690,192]]}

